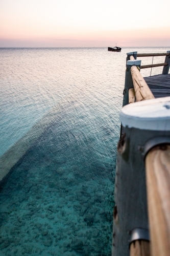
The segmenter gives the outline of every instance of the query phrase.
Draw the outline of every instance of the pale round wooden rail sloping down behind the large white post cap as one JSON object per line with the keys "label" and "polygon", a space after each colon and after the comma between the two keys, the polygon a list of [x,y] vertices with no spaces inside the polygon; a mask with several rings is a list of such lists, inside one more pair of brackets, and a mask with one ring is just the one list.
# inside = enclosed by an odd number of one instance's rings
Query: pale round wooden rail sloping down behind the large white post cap
{"label": "pale round wooden rail sloping down behind the large white post cap", "polygon": [[131,67],[131,74],[133,80],[133,86],[135,89],[136,101],[154,99],[154,95],[148,87],[148,84],[144,81],[136,66]]}

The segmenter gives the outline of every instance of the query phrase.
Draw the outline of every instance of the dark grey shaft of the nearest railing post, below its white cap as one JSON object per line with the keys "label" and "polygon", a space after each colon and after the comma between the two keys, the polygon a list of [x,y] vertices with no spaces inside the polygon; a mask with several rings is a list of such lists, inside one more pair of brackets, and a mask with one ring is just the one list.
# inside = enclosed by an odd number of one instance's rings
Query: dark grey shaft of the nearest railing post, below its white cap
{"label": "dark grey shaft of the nearest railing post, below its white cap", "polygon": [[118,143],[115,203],[113,218],[114,256],[129,256],[129,240],[134,228],[148,228],[145,168],[142,148],[156,136],[169,136],[169,132],[129,129]]}

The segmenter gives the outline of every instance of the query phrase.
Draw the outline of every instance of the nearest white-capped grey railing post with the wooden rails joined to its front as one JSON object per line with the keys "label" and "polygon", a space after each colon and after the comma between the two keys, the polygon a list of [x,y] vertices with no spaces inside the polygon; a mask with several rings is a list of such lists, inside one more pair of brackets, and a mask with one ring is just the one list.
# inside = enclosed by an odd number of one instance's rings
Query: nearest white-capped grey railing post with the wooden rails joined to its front
{"label": "nearest white-capped grey railing post with the wooden rails joined to its front", "polygon": [[[128,104],[120,112],[120,121],[125,133],[117,146],[112,255],[150,255],[148,191],[152,256],[167,256],[170,250],[170,146],[167,146],[170,97]],[[164,143],[165,147],[157,148]],[[152,150],[155,147],[157,153]],[[147,189],[144,154],[147,155]]]}

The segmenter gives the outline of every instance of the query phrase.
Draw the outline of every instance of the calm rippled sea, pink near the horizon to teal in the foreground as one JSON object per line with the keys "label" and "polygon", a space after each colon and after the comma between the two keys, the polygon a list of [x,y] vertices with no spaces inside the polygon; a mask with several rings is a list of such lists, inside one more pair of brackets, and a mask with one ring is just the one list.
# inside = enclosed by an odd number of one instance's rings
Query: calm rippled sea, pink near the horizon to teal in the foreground
{"label": "calm rippled sea, pink near the horizon to teal in the foreground", "polygon": [[126,53],[166,50],[0,49],[1,255],[111,255]]}

